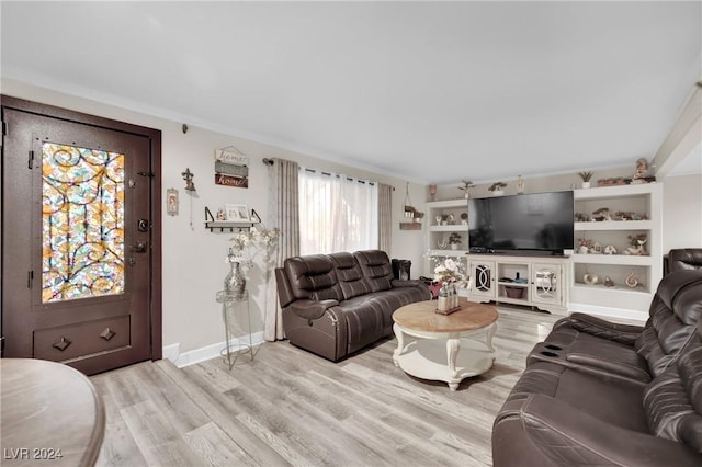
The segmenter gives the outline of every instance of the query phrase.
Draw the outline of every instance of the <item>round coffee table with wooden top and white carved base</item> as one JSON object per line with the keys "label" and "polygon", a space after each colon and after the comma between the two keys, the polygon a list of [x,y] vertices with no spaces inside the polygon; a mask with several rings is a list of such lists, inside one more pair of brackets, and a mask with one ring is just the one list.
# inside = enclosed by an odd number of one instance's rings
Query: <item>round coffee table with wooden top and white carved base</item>
{"label": "round coffee table with wooden top and white carved base", "polygon": [[464,378],[487,372],[495,362],[492,337],[499,315],[489,305],[463,298],[460,305],[451,315],[435,312],[435,300],[398,308],[393,314],[395,366],[418,378],[446,381],[451,390]]}

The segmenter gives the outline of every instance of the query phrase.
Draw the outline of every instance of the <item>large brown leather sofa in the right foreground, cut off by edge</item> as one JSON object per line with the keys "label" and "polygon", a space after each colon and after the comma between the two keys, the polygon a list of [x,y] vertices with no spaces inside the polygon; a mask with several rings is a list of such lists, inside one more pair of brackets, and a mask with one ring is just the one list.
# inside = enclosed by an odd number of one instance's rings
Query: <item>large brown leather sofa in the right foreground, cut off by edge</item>
{"label": "large brown leather sofa in the right foreground, cut off by edge", "polygon": [[559,320],[492,426],[500,466],[702,466],[702,270],[666,275],[643,327]]}

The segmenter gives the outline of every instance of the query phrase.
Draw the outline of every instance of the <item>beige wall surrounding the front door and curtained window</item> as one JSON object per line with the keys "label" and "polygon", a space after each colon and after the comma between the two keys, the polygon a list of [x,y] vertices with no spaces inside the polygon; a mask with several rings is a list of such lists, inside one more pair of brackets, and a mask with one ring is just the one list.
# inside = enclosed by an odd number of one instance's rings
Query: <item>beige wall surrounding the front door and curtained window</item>
{"label": "beige wall surrounding the front door and curtained window", "polygon": [[[225,203],[245,204],[268,219],[268,169],[263,158],[285,158],[301,164],[354,176],[375,180],[395,186],[393,196],[393,247],[390,258],[421,262],[422,232],[400,231],[405,181],[367,171],[330,163],[269,145],[237,138],[217,132],[190,126],[183,134],[174,122],[129,110],[106,105],[64,93],[36,88],[26,83],[2,80],[5,95],[27,99],[99,115],[107,118],[158,128],[162,132],[163,193],[176,187],[180,194],[180,215],[171,217],[163,209],[163,345],[180,344],[180,352],[193,351],[224,341],[224,329],[215,293],[223,286],[228,266],[225,254],[231,234],[211,234],[204,228],[204,208],[216,208]],[[214,184],[214,151],[234,145],[250,157],[249,189],[224,187]],[[195,174],[196,193],[191,197],[184,190],[181,172],[190,168]],[[410,184],[412,200],[423,200],[424,187]],[[192,218],[192,226],[191,226]],[[249,281],[252,293],[251,312],[253,332],[262,330],[264,294],[260,270]]]}

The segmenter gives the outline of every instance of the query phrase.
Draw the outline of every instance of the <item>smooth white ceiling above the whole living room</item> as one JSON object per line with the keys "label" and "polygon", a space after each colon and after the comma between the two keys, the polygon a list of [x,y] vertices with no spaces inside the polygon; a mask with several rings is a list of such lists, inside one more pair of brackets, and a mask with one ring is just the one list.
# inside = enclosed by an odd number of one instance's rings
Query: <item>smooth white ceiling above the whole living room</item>
{"label": "smooth white ceiling above the whole living room", "polygon": [[3,77],[424,183],[652,159],[702,2],[0,3]]}

